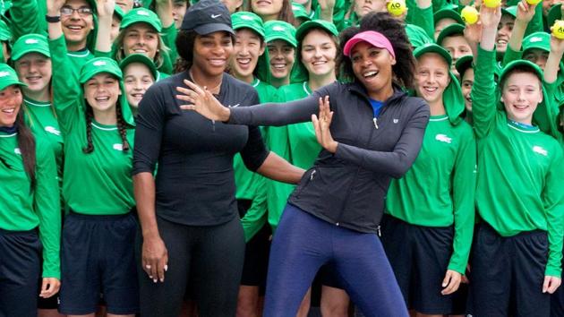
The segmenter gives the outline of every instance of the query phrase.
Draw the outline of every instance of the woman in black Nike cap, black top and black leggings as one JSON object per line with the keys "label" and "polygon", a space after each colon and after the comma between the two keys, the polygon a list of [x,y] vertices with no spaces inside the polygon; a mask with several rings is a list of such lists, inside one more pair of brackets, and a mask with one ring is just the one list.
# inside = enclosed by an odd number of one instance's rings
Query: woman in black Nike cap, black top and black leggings
{"label": "woman in black Nike cap, black top and black leggings", "polygon": [[233,42],[225,5],[214,0],[194,4],[176,39],[183,72],[158,81],[141,100],[133,182],[146,273],[140,270],[144,316],[177,316],[189,276],[194,277],[191,289],[200,316],[235,315],[244,260],[235,201],[236,152],[264,176],[287,183],[303,176],[303,169],[265,149],[257,127],[208,120],[181,110],[183,101],[174,98],[175,88],[190,80],[230,107],[258,103],[252,86],[224,73]]}

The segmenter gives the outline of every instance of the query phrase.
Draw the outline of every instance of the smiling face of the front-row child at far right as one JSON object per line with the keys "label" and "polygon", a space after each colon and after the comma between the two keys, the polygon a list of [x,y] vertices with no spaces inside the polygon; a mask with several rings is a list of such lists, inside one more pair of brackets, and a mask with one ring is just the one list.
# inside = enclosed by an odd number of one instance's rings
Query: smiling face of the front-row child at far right
{"label": "smiling face of the front-row child at far right", "polygon": [[509,120],[531,124],[534,110],[543,101],[541,81],[534,73],[511,73],[503,84],[501,101]]}

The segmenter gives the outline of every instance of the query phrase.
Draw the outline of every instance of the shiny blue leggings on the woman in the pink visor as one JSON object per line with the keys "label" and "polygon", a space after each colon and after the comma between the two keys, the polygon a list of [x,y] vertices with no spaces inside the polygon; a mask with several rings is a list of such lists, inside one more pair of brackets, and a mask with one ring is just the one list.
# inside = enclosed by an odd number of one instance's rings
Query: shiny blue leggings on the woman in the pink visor
{"label": "shiny blue leggings on the woman in the pink visor", "polygon": [[366,317],[407,317],[380,239],[286,205],[272,242],[264,316],[294,316],[315,274],[331,264]]}

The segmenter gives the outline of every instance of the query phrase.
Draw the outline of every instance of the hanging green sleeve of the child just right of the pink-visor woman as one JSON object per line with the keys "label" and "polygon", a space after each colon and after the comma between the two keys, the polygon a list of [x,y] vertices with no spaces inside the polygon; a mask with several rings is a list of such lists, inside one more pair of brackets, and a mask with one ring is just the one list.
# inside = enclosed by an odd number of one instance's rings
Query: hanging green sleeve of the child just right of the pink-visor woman
{"label": "hanging green sleeve of the child just right of the pink-visor woman", "polygon": [[454,208],[453,253],[449,270],[464,275],[474,234],[474,188],[476,182],[476,145],[469,128],[461,135],[460,149],[452,177],[452,202]]}

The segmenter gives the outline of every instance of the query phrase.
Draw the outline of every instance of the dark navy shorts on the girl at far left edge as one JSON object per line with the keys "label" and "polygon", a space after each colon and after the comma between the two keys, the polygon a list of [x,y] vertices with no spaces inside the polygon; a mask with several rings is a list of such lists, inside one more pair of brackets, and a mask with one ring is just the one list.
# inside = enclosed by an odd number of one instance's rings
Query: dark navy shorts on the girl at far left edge
{"label": "dark navy shorts on the girl at far left edge", "polygon": [[37,316],[40,272],[37,230],[0,229],[0,316]]}

